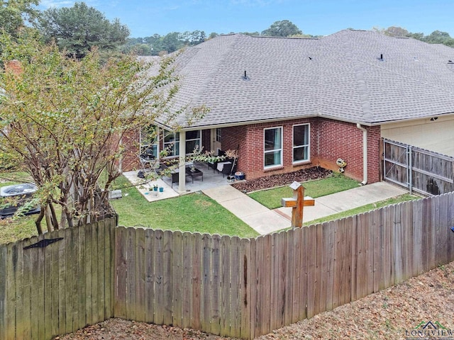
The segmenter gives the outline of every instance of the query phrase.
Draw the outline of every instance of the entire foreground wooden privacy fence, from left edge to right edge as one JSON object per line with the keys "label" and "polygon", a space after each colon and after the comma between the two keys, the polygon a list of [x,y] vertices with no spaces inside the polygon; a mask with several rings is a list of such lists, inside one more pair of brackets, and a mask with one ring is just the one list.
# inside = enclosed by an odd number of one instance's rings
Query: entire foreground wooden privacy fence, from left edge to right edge
{"label": "entire foreground wooden privacy fence, from left edge to right edge", "polygon": [[448,193],[256,239],[105,222],[1,245],[0,339],[109,317],[253,339],[454,261],[453,207]]}

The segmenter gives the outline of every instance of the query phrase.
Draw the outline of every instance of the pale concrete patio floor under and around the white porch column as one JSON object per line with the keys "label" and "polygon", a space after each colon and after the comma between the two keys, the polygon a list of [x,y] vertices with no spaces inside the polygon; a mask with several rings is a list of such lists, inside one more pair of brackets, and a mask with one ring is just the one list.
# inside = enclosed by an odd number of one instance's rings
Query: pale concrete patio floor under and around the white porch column
{"label": "pale concrete patio floor under and around the white porch column", "polygon": [[[197,170],[201,171],[200,175],[190,176],[187,174],[187,171],[183,171],[183,174],[177,174],[175,183],[172,183],[172,176],[162,176],[162,179],[156,179],[155,181],[140,179],[137,176],[139,170],[123,172],[123,176],[133,183],[145,199],[150,202],[172,198],[186,193],[194,193],[209,188],[216,188],[218,186],[225,186],[226,184],[236,182],[236,179],[228,179],[227,175],[223,175],[221,172],[212,169],[206,163],[194,162],[194,165]],[[184,179],[183,186],[179,185],[181,179]],[[158,188],[157,193],[153,191],[154,186],[157,186]],[[162,188],[162,191],[160,191],[159,188]]]}

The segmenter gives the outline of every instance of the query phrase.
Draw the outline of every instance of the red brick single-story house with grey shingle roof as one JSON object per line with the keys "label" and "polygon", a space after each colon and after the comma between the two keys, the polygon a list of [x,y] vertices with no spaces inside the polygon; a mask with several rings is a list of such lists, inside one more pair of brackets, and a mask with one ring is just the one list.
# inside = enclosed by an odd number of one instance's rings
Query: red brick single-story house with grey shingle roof
{"label": "red brick single-story house with grey shingle roof", "polygon": [[238,149],[246,179],[336,170],[341,158],[346,175],[376,182],[381,137],[454,156],[454,49],[444,45],[365,30],[319,39],[221,35],[184,50],[177,72],[176,108],[211,111],[165,144],[176,141],[180,153]]}

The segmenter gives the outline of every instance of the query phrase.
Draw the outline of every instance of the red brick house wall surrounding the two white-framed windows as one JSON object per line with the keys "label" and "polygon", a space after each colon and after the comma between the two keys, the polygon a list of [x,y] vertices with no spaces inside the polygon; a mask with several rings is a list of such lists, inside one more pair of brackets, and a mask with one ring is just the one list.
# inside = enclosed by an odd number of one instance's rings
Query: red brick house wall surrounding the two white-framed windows
{"label": "red brick house wall surrounding the two white-framed windows", "polygon": [[[293,126],[310,124],[311,162],[292,164]],[[263,169],[263,130],[282,126],[283,164],[273,169]],[[379,181],[380,127],[367,127],[367,172],[368,182]],[[238,171],[247,179],[270,174],[282,174],[298,169],[320,165],[333,171],[338,170],[336,160],[347,162],[345,175],[362,181],[362,130],[353,123],[343,123],[325,118],[285,120],[275,123],[260,123],[232,128],[223,128],[222,148],[238,149]]]}

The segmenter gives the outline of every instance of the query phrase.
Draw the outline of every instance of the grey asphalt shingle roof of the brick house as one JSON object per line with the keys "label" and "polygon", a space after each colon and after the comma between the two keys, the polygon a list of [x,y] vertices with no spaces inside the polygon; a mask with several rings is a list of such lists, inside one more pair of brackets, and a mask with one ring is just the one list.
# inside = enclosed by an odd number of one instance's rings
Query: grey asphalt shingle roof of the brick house
{"label": "grey asphalt shingle roof of the brick house", "polygon": [[423,118],[454,113],[448,60],[451,47],[372,31],[320,39],[221,35],[177,57],[175,103],[211,109],[195,127],[314,116],[368,125]]}

